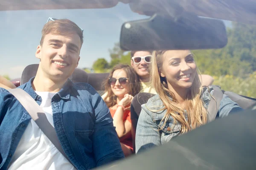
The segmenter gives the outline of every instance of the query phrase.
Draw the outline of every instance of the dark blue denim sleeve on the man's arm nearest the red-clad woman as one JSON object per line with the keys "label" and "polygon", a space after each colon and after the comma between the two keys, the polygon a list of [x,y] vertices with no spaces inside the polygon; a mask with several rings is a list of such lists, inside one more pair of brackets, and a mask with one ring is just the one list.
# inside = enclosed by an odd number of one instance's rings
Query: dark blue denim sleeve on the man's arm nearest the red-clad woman
{"label": "dark blue denim sleeve on the man's arm nearest the red-clad woman", "polygon": [[94,111],[93,154],[97,167],[124,158],[110,111],[96,90],[90,86]]}

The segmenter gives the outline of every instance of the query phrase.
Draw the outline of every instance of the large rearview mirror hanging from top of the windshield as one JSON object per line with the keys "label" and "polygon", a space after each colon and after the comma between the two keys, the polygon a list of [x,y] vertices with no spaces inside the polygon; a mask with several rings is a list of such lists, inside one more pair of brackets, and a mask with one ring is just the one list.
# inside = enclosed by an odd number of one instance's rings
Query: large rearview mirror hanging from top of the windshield
{"label": "large rearview mirror hanging from top of the windshield", "polygon": [[122,25],[120,47],[127,51],[207,49],[227,45],[221,20],[186,15],[179,18],[154,14],[149,19]]}

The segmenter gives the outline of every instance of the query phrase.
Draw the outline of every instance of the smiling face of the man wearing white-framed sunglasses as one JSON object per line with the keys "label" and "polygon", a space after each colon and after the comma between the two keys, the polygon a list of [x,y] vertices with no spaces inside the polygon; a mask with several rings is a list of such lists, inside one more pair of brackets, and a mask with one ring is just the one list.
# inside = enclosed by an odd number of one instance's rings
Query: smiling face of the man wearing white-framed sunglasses
{"label": "smiling face of the man wearing white-framed sunglasses", "polygon": [[[140,56],[140,57],[144,57],[148,55],[151,55],[150,52],[148,51],[136,51],[134,53],[134,56]],[[133,62],[133,60],[131,60],[131,66],[134,69],[134,71],[140,76],[140,78],[149,77],[149,70],[148,70],[149,63],[145,62],[144,59],[139,64],[136,64]]]}

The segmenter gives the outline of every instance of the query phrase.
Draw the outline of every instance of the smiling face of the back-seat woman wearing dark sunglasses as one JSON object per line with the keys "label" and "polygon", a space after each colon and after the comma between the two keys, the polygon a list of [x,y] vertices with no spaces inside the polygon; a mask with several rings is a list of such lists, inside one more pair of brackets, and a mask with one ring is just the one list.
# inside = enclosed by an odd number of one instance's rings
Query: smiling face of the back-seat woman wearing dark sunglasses
{"label": "smiling face of the back-seat woman wearing dark sunglasses", "polygon": [[117,69],[113,72],[112,77],[116,79],[116,83],[111,84],[111,90],[113,91],[113,94],[115,94],[119,98],[123,98],[125,94],[129,94],[130,92],[130,88],[128,84],[129,80],[126,80],[126,83],[122,83],[122,84],[120,84],[120,82],[118,81],[118,79],[121,77],[128,78],[125,71],[123,69]]}

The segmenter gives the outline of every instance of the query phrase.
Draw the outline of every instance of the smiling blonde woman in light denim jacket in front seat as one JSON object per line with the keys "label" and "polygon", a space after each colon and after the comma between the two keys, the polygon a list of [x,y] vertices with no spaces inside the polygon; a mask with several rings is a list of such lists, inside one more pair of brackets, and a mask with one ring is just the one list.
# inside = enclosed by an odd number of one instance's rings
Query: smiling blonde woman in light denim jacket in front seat
{"label": "smiling blonde woman in light denim jacket in front seat", "polygon": [[[207,107],[213,88],[201,86],[191,51],[154,51],[151,82],[157,95],[142,105],[136,130],[136,153],[165,144],[172,137],[208,122]],[[224,95],[216,117],[240,110]]]}

